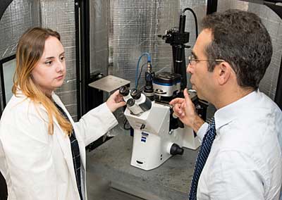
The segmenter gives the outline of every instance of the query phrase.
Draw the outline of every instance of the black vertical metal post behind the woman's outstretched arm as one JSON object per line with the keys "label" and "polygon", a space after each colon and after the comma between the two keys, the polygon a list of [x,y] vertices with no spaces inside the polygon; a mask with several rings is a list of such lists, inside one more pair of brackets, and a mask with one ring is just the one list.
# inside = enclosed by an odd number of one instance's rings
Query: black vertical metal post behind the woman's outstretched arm
{"label": "black vertical metal post behind the woman's outstretched arm", "polygon": [[[103,77],[90,74],[90,0],[75,0],[76,70],[78,82],[78,120],[92,108],[103,103],[103,92],[88,84]],[[100,137],[86,149],[92,151],[111,137]]]}

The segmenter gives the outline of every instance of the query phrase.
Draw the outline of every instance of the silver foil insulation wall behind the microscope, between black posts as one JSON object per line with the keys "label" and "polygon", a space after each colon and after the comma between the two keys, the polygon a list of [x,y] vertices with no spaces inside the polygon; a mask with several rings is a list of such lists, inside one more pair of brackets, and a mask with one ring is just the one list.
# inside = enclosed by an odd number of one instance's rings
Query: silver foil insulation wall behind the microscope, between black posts
{"label": "silver foil insulation wall behind the microscope, between black posts", "polygon": [[[137,60],[143,52],[151,54],[155,73],[171,71],[173,65],[171,46],[157,35],[164,35],[166,30],[178,27],[180,11],[186,7],[192,8],[199,22],[207,9],[207,2],[203,0],[93,0],[90,1],[91,4],[95,12],[90,12],[90,15],[92,15],[90,25],[95,29],[90,28],[90,35],[93,35],[92,40],[96,41],[96,47],[92,47],[96,48],[92,50],[96,55],[94,56],[95,59],[91,58],[91,70],[92,72],[99,70],[102,73],[109,73],[130,80],[131,87],[135,87]],[[185,30],[190,32],[188,44],[192,46],[195,43],[195,21],[189,11],[185,15],[187,15]],[[103,16],[108,18],[106,26],[104,20],[99,20]],[[106,33],[109,36],[108,41],[104,37]],[[109,56],[106,65],[104,44],[107,42],[109,44],[107,49]],[[186,56],[189,53],[190,50],[186,50]],[[90,54],[93,55],[91,52]],[[144,56],[140,62],[139,71],[142,64],[146,62],[147,57]],[[109,68],[106,68],[107,66]],[[145,68],[142,72],[139,85],[145,84]]]}

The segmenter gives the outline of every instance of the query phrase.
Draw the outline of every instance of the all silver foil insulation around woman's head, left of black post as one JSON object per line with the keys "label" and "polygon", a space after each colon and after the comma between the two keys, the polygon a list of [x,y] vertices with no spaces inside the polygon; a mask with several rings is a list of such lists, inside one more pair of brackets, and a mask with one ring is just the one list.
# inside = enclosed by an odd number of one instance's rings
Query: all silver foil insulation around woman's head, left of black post
{"label": "all silver foil insulation around woman's head, left of black post", "polygon": [[[14,0],[0,20],[0,59],[16,54],[18,39],[30,27],[56,30],[66,51],[67,75],[57,89],[68,111],[77,119],[75,75],[75,7],[73,0]],[[2,95],[2,94],[1,94]]]}

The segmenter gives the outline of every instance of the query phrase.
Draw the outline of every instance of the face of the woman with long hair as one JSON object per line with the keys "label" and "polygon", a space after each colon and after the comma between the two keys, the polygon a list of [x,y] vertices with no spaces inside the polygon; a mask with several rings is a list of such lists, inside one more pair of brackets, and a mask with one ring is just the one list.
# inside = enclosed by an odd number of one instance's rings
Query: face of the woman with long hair
{"label": "face of the woman with long hair", "polygon": [[48,96],[57,87],[63,85],[66,76],[65,51],[56,37],[45,41],[42,57],[31,72],[32,80]]}

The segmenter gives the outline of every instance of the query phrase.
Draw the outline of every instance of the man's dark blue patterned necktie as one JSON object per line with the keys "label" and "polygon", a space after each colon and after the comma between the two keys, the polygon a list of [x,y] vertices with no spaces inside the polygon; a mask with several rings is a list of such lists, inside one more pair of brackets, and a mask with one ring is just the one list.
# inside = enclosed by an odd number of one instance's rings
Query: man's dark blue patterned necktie
{"label": "man's dark blue patterned necktie", "polygon": [[211,151],[212,149],[212,142],[214,142],[214,138],[216,138],[216,128],[213,118],[212,122],[209,123],[209,127],[207,128],[206,135],[204,135],[201,149],[197,157],[194,175],[191,183],[189,200],[197,199],[197,186],[198,186],[199,178],[202,173],[202,169],[204,168],[204,164],[207,161],[207,157],[209,156],[209,151]]}

